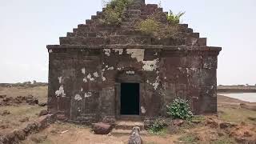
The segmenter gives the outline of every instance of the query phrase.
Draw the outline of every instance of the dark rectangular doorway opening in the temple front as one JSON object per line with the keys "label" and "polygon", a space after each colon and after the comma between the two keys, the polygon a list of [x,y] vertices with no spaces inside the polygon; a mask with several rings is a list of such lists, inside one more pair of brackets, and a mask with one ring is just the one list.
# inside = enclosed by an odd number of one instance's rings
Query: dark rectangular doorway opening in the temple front
{"label": "dark rectangular doorway opening in the temple front", "polygon": [[121,114],[139,115],[139,83],[121,83]]}

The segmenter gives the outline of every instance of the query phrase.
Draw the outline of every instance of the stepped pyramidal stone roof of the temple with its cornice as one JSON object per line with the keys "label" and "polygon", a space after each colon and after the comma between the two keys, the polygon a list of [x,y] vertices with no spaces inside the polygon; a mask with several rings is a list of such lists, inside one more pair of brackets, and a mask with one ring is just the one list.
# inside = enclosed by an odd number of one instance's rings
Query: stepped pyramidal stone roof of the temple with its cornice
{"label": "stepped pyramidal stone roof of the temple with its cornice", "polygon": [[168,23],[166,14],[156,4],[145,4],[145,1],[135,0],[124,10],[124,18],[119,25],[106,25],[100,22],[104,18],[104,11],[98,11],[86,20],[86,24],[79,24],[73,32],[68,32],[66,37],[59,38],[59,45],[49,45],[54,48],[171,48],[179,50],[214,50],[220,47],[206,46],[206,38],[200,38],[187,24],[178,24],[179,38],[156,38],[154,35],[145,34],[138,30],[138,22],[146,20],[157,14],[158,22]]}

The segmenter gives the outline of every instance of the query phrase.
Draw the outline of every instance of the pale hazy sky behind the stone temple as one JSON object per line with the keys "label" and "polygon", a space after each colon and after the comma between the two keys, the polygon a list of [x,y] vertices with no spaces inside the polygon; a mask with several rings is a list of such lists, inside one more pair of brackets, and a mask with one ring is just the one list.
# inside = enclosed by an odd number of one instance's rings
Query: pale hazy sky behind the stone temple
{"label": "pale hazy sky behind the stone temple", "polygon": [[[256,83],[255,0],[162,0],[162,7],[186,11],[182,23],[208,38],[208,46],[222,46],[218,84]],[[0,83],[47,82],[46,45],[98,10],[102,0],[0,0]]]}

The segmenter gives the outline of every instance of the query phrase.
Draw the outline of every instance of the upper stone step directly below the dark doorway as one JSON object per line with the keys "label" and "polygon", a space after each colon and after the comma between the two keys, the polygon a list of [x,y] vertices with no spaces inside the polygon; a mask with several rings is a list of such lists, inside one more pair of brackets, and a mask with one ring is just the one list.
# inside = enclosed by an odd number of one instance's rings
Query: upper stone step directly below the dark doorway
{"label": "upper stone step directly below the dark doorway", "polygon": [[134,126],[138,126],[141,130],[144,130],[144,122],[118,121],[115,124],[116,130],[132,130]]}

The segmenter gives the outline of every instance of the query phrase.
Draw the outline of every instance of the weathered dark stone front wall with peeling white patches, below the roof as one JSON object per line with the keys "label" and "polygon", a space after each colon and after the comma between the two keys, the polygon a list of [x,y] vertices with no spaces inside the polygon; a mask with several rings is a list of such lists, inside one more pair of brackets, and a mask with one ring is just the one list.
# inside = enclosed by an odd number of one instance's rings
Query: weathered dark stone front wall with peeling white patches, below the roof
{"label": "weathered dark stone front wall with peeling white patches, below the roof", "polygon": [[214,113],[216,57],[210,50],[53,49],[49,109],[75,122],[116,117],[121,82],[138,82],[142,117],[166,115],[177,97],[188,99],[194,114]]}

